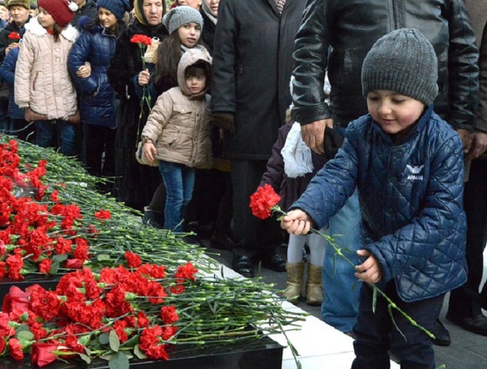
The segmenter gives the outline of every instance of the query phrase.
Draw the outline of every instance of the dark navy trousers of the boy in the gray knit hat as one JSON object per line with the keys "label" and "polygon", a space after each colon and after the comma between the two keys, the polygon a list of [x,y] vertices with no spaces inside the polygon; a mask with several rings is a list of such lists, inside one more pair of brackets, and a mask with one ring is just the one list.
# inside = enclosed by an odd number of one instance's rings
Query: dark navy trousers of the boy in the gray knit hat
{"label": "dark navy trousers of the boy in the gray knit hat", "polygon": [[[431,331],[438,318],[445,295],[417,302],[404,302],[398,295],[394,280],[381,284],[381,290],[417,324]],[[352,369],[390,368],[388,350],[394,343],[394,354],[401,359],[403,369],[434,369],[435,352],[431,338],[413,326],[403,315],[392,309],[394,322],[406,336],[407,341],[395,329],[388,311],[388,302],[378,295],[376,311],[372,311],[373,290],[367,284],[360,289],[357,325],[353,328],[356,341],[353,343],[356,359]]]}

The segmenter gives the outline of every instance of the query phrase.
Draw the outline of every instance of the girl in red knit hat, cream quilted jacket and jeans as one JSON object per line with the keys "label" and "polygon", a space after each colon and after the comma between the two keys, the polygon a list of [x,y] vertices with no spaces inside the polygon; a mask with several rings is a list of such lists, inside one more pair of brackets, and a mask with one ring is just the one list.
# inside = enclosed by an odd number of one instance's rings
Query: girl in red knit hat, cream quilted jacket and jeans
{"label": "girl in red knit hat, cream quilted jacket and jeans", "polygon": [[67,71],[67,55],[79,33],[70,25],[77,10],[66,0],[39,0],[39,15],[26,24],[15,70],[15,103],[35,121],[35,143],[51,142],[56,130],[61,153],[75,154],[73,124],[79,122],[77,96]]}

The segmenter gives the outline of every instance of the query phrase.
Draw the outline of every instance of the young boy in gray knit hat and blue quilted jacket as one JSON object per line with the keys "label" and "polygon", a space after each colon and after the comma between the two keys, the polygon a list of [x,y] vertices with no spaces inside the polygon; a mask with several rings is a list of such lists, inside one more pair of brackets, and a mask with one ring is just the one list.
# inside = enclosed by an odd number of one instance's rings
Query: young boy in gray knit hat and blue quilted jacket
{"label": "young boy in gray knit hat and blue quilted jacket", "polygon": [[[351,122],[326,163],[281,222],[289,233],[320,229],[357,187],[362,215],[356,359],[352,368],[435,368],[431,338],[370,284],[431,331],[445,293],[466,280],[463,146],[433,112],[438,61],[431,43],[402,28],[377,40],[362,67],[369,114]],[[375,312],[374,312],[375,309]],[[405,338],[402,336],[404,334]]]}

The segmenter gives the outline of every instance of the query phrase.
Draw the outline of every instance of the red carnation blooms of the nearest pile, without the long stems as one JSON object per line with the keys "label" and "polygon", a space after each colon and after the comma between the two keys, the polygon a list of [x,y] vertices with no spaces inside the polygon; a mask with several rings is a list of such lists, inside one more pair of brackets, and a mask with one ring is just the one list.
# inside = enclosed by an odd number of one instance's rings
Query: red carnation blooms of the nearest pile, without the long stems
{"label": "red carnation blooms of the nearest pile, without the long stems", "polygon": [[77,270],[65,274],[54,291],[38,284],[25,291],[11,287],[0,313],[0,352],[16,360],[31,352],[38,366],[77,355],[87,363],[92,356],[108,356],[111,367],[122,368],[128,366],[122,351],[167,360],[166,345],[177,334],[179,317],[166,298],[184,293],[197,270],[186,263],[169,278],[166,267],[143,265],[129,252],[127,267],[99,274]]}

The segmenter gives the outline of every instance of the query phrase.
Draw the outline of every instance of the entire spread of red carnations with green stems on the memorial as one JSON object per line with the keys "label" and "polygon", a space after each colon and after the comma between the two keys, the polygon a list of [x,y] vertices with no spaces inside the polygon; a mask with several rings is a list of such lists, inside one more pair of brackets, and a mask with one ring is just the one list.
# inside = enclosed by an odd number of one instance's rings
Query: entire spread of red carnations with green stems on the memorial
{"label": "entire spread of red carnations with green stems on the memorial", "polygon": [[0,363],[125,369],[134,356],[168,359],[173,345],[257,340],[303,320],[259,279],[218,277],[205,249],[146,227],[98,181],[73,158],[0,135],[1,280],[58,279],[0,296]]}

